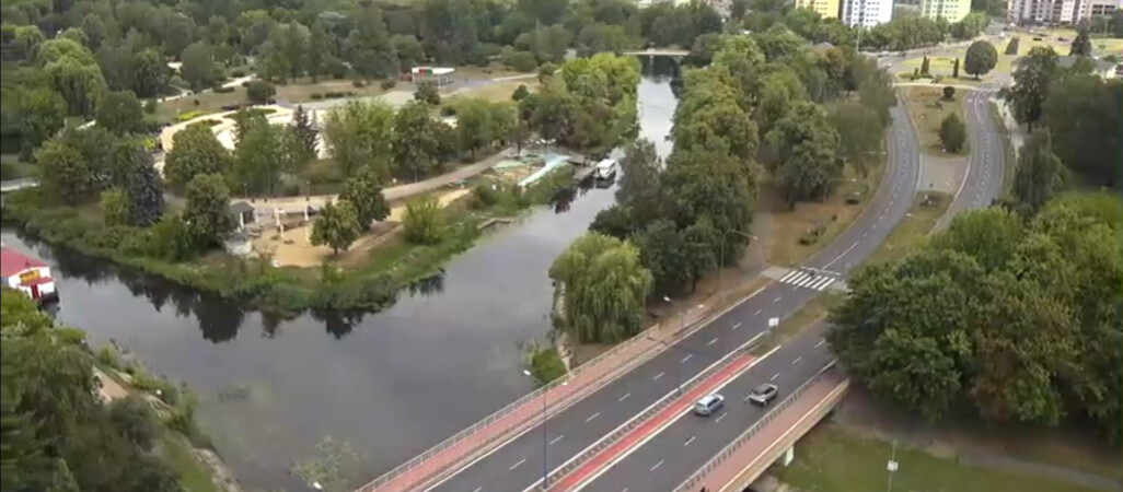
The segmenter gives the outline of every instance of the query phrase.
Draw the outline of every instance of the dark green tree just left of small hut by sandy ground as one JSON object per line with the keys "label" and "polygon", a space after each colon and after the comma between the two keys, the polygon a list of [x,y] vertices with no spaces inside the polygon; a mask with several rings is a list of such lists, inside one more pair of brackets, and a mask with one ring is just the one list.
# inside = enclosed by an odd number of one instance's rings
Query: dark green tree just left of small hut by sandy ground
{"label": "dark green tree just left of small hut by sandy ground", "polygon": [[221,175],[200,174],[191,179],[183,221],[194,239],[194,248],[207,250],[221,244],[222,238],[235,226],[229,207],[230,192]]}

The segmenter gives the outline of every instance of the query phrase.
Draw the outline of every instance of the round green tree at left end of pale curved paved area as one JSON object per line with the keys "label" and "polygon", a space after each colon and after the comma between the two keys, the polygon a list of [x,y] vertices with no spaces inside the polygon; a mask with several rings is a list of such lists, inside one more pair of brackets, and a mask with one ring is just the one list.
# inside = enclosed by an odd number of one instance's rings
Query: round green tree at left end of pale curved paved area
{"label": "round green tree at left end of pale curved paved area", "polygon": [[230,151],[218,141],[207,122],[189,124],[172,137],[164,158],[164,178],[175,189],[186,189],[198,175],[229,173]]}

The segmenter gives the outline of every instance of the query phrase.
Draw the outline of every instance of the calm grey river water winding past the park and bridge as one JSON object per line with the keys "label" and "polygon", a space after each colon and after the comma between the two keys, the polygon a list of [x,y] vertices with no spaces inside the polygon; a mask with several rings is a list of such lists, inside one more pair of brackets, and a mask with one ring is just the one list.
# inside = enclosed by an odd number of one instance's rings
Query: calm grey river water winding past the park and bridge
{"label": "calm grey river water winding past the park and bridge", "polygon": [[[664,156],[676,100],[669,69],[639,86],[640,134]],[[578,192],[482,238],[439,281],[360,319],[263,319],[238,305],[122,272],[4,229],[6,245],[54,268],[58,318],[116,341],[200,397],[199,418],[248,490],[305,490],[289,474],[325,436],[346,439],[373,479],[533,389],[519,343],[550,327],[546,272],[611,188]]]}

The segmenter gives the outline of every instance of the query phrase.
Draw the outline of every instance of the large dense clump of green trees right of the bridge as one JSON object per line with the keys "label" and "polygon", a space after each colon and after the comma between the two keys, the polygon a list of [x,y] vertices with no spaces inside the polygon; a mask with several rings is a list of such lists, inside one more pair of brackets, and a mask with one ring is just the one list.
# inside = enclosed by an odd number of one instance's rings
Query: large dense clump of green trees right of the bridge
{"label": "large dense clump of green trees right of the bridge", "polygon": [[922,250],[864,269],[832,351],[876,393],[937,420],[1095,423],[1123,437],[1123,203],[1053,198],[1030,219],[968,212]]}

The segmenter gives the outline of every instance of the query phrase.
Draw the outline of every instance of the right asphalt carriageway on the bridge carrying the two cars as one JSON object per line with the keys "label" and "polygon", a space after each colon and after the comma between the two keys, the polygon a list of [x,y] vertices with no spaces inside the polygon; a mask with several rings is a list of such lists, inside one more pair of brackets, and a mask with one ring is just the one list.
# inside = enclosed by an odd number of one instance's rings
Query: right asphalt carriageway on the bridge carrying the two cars
{"label": "right asphalt carriageway on the bridge carrying the two cars", "polygon": [[579,490],[641,492],[678,485],[768,412],[767,407],[745,401],[754,388],[776,384],[780,392],[773,402],[778,403],[831,361],[827,344],[821,343],[825,329],[825,323],[815,324],[719,390],[725,397],[722,411],[710,417],[684,414]]}

